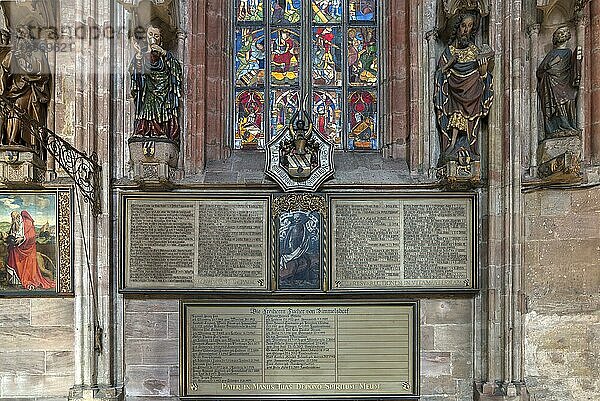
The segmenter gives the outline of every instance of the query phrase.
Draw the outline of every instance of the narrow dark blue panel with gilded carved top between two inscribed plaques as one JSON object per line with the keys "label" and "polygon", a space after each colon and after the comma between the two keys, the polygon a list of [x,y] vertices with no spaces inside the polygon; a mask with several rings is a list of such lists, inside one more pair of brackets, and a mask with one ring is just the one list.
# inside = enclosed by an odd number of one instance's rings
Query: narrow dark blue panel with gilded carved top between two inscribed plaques
{"label": "narrow dark blue panel with gilded carved top between two inscribed plaques", "polygon": [[327,200],[322,194],[284,194],[272,201],[272,287],[327,288]]}

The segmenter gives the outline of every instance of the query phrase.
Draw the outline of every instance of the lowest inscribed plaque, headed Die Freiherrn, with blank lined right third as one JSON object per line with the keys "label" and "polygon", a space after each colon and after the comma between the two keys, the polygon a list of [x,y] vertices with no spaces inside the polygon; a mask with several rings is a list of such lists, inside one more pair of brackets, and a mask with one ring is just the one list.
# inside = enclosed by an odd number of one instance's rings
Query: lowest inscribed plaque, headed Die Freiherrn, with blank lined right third
{"label": "lowest inscribed plaque, headed Die Freiherrn, with blank lined right third", "polygon": [[416,304],[183,303],[182,395],[416,395]]}

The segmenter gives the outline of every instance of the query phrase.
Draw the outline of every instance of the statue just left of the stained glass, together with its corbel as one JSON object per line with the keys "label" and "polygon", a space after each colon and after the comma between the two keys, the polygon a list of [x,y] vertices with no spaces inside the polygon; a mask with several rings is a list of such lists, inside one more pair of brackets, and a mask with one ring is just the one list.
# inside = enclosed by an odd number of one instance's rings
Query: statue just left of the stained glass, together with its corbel
{"label": "statue just left of the stained glass, together with its corbel", "polygon": [[168,186],[179,160],[182,66],[165,48],[158,24],[146,27],[143,46],[134,38],[132,47],[135,121],[129,153],[134,179],[145,186]]}

